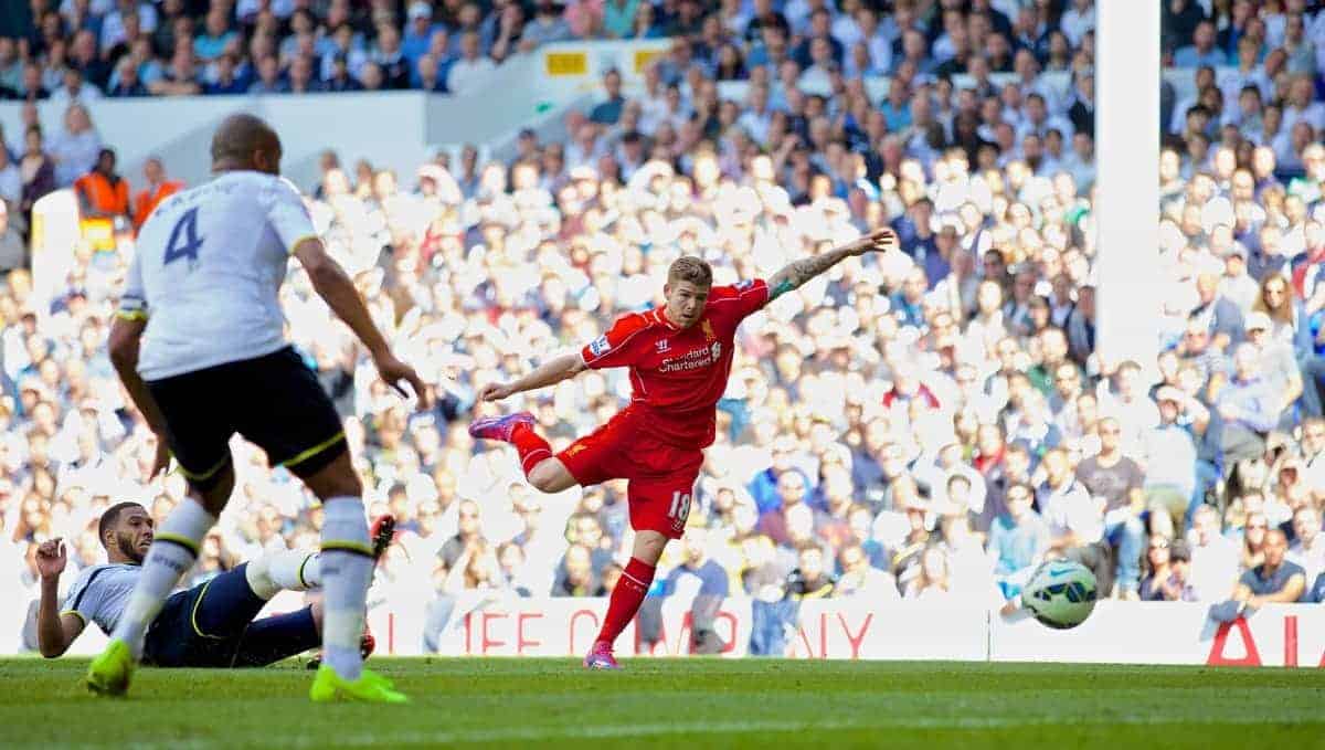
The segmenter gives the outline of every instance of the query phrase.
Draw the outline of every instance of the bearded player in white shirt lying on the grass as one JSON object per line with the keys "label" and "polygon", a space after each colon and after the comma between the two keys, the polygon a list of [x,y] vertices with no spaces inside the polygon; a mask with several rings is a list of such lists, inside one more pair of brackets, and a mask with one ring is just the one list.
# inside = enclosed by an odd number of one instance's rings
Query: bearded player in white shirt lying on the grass
{"label": "bearded player in white shirt lying on the grass", "polygon": [[[60,575],[68,555],[61,539],[37,547],[41,604],[37,643],[46,659],[69,651],[87,623],[106,635],[125,612],[129,595],[143,572],[143,558],[155,537],[155,523],[136,502],[121,502],[102,514],[97,527],[106,549],[106,564],[83,568],[60,611]],[[372,551],[380,557],[391,543],[395,518],[372,525]],[[235,570],[179,591],[166,600],[147,631],[143,663],[155,667],[265,667],[317,648],[322,643],[322,603],[297,612],[254,619],[278,591],[305,591],[322,586],[318,553],[288,550],[262,553]],[[372,636],[362,649],[372,652]]]}

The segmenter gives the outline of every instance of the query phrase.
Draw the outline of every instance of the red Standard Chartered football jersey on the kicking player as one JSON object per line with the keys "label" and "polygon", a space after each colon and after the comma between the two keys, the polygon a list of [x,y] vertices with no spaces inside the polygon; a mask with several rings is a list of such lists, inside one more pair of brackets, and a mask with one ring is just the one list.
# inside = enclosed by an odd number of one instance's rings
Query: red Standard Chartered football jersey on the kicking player
{"label": "red Standard Chartered football jersey on the kicking player", "polygon": [[631,409],[676,445],[713,443],[714,407],[727,388],[737,326],[768,302],[763,280],[714,286],[700,321],[681,330],[662,309],[628,313],[580,350],[584,364],[631,368]]}

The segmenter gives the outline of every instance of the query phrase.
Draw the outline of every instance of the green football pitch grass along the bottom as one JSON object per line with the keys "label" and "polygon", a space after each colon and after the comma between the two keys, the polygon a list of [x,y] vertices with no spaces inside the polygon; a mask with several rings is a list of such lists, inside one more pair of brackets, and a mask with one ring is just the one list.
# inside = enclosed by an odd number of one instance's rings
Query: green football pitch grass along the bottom
{"label": "green football pitch grass along the bottom", "polygon": [[627,659],[376,659],[408,706],[313,705],[311,672],[0,661],[0,747],[1325,749],[1325,669]]}

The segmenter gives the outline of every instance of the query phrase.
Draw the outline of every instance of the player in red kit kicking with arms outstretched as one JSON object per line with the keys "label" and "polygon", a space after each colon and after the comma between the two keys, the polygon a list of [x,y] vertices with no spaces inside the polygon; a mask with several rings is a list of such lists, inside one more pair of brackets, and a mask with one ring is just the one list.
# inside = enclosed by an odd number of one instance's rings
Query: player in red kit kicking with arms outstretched
{"label": "player in red kit kicking with arms outstretched", "polygon": [[709,264],[697,257],[677,258],[662,288],[665,306],[621,315],[579,352],[480,391],[480,402],[494,402],[553,386],[586,368],[631,368],[629,405],[555,456],[534,432],[529,412],[480,419],[469,427],[474,437],[513,444],[525,476],[542,492],[629,480],[635,547],[584,667],[617,668],[612,643],[639,611],[662,549],[685,529],[704,448],[713,443],[714,409],[731,372],[741,321],[848,257],[897,246],[892,229],[877,229],[855,242],[795,261],[767,281],[717,288]]}

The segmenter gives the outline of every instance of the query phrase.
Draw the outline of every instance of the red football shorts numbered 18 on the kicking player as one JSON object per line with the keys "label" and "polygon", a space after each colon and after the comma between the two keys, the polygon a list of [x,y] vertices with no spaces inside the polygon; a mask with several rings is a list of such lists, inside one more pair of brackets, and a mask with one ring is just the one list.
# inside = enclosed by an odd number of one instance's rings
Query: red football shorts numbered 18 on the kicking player
{"label": "red football shorts numbered 18 on the kicking player", "polygon": [[629,480],[631,527],[681,538],[704,451],[662,443],[627,409],[556,457],[583,486]]}

